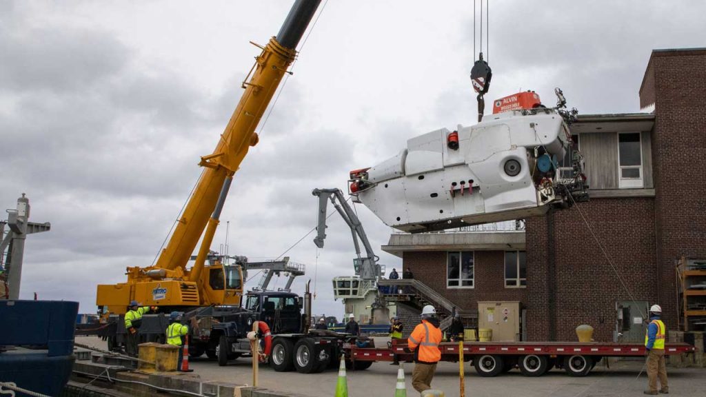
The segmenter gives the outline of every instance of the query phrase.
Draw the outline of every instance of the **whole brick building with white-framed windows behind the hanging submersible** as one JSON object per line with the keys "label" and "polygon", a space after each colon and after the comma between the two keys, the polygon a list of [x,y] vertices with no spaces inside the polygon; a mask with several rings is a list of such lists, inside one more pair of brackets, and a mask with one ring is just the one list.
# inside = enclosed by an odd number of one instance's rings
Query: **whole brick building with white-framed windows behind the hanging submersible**
{"label": "whole brick building with white-framed windows behind the hanging submersible", "polygon": [[706,49],[654,50],[639,93],[649,113],[571,128],[590,202],[505,230],[394,234],[383,250],[466,312],[522,302],[526,340],[574,340],[579,324],[596,340],[640,340],[630,324],[654,303],[676,328],[675,262],[706,258]]}

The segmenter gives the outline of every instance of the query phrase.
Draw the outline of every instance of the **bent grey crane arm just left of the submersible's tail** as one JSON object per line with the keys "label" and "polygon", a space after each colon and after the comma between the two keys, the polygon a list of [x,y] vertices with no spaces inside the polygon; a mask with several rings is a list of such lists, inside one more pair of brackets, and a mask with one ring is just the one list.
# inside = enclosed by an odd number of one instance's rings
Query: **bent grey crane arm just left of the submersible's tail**
{"label": "bent grey crane arm just left of the submersible's tail", "polygon": [[[326,206],[328,205],[328,200],[330,200],[336,208],[336,211],[341,215],[341,218],[343,218],[351,229],[355,253],[359,263],[357,273],[359,273],[363,280],[376,280],[381,274],[380,265],[378,265],[378,257],[373,252],[373,247],[370,245],[368,236],[365,234],[365,230],[363,230],[363,225],[360,223],[358,216],[348,204],[340,189],[313,189],[311,194],[318,197],[317,235],[316,238],[313,239],[316,247],[323,248],[323,240],[326,238]],[[363,242],[366,257],[361,257],[358,239]]]}

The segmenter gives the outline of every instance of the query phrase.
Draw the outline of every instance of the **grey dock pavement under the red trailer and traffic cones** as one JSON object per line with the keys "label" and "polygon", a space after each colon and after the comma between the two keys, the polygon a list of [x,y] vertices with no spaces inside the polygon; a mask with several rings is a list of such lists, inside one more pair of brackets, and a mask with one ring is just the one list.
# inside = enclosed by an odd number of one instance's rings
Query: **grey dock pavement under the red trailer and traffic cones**
{"label": "grey dock pavement under the red trailer and traffic cones", "polygon": [[[83,343],[104,347],[98,338],[80,338]],[[90,343],[88,342],[90,340]],[[609,397],[643,396],[647,389],[647,374],[644,362],[621,361],[606,368],[597,365],[587,377],[570,377],[563,370],[553,369],[542,377],[524,377],[513,369],[494,378],[479,377],[466,363],[465,397]],[[413,363],[405,363],[407,396],[418,396],[412,388]],[[232,360],[219,367],[205,355],[192,358],[193,374],[203,381],[226,381],[235,384],[252,384],[252,361],[249,357]],[[446,397],[460,396],[458,363],[439,363],[432,386],[445,391]],[[705,397],[706,369],[667,367],[670,396]],[[259,386],[276,391],[291,391],[312,397],[333,397],[337,381],[337,369],[328,369],[319,374],[297,372],[275,372],[266,365],[260,367]],[[394,396],[397,367],[388,362],[377,362],[363,371],[348,371],[349,397]]]}

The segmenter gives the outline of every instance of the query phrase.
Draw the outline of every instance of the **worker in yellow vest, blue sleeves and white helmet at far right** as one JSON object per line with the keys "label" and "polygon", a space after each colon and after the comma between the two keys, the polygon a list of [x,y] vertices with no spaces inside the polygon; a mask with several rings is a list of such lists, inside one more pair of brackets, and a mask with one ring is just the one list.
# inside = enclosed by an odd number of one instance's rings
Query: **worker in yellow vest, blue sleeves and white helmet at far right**
{"label": "worker in yellow vest, blue sleeves and white helmet at far right", "polygon": [[[668,394],[669,386],[666,383],[666,365],[664,362],[664,340],[666,338],[666,328],[659,317],[662,316],[662,307],[653,304],[650,307],[650,325],[645,333],[645,349],[647,349],[647,379],[650,382],[650,390],[645,394],[657,396],[659,393]],[[657,377],[662,388],[657,392]]]}

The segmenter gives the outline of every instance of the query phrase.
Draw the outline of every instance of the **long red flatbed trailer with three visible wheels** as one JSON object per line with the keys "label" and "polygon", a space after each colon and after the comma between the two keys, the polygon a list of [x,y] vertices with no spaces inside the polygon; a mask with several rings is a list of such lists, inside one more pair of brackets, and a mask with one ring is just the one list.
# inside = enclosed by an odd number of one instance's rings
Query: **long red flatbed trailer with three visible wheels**
{"label": "long red flatbed trailer with three visible wheels", "polygon": [[[347,357],[355,362],[395,360],[413,361],[407,343],[393,343],[387,348],[358,348],[345,345]],[[439,345],[441,361],[458,362],[459,344]],[[665,355],[694,352],[686,343],[667,343]],[[464,342],[463,360],[471,362],[481,377],[496,377],[515,367],[527,377],[539,377],[553,367],[563,368],[573,377],[585,377],[603,357],[644,357],[641,343],[612,342]],[[355,366],[357,367],[357,366]],[[369,365],[368,365],[369,367]]]}

